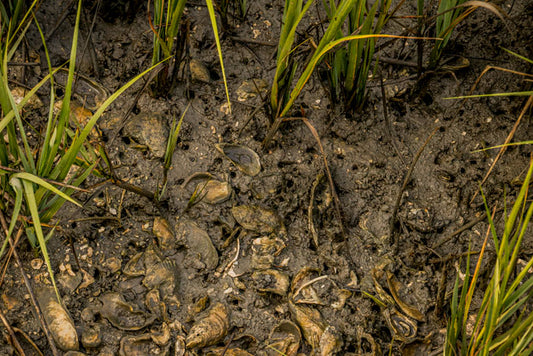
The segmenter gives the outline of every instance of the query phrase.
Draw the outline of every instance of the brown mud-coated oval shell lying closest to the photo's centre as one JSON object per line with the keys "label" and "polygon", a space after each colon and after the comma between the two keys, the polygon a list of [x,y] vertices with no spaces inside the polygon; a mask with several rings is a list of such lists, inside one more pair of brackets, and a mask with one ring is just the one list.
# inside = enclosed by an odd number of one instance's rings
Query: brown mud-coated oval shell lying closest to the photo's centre
{"label": "brown mud-coated oval shell lying closest to the photo's centre", "polygon": [[271,234],[282,227],[281,218],[274,211],[260,206],[234,206],[231,213],[239,225],[260,234]]}

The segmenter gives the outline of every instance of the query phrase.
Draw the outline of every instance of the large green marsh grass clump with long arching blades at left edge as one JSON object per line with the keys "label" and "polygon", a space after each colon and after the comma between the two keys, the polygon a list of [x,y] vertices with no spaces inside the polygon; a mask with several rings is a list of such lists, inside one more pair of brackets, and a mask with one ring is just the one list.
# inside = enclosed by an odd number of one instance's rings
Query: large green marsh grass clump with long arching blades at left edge
{"label": "large green marsh grass clump with long arching blades at left edge", "polygon": [[[58,114],[54,113],[54,106],[58,101],[53,75],[59,68],[52,69],[44,34],[32,16],[31,10],[36,4],[37,0],[32,3],[18,26],[13,22],[14,19],[9,19],[10,21],[7,22],[4,18],[2,23],[3,41],[0,47],[2,54],[0,69],[0,97],[2,98],[0,102],[2,108],[2,118],[0,119],[2,137],[0,140],[0,180],[4,194],[2,212],[10,217],[11,221],[7,238],[0,249],[0,256],[4,253],[8,241],[18,225],[19,229],[26,232],[30,244],[41,250],[55,288],[54,274],[46,247],[46,241],[52,236],[54,229],[50,229],[45,236],[43,226],[50,226],[49,223],[66,201],[80,206],[71,196],[98,164],[97,160],[87,161],[87,158],[90,157],[87,153],[94,151],[94,147],[88,146],[89,134],[98,119],[116,98],[154,67],[137,75],[109,96],[92,114],[83,128],[70,129],[81,0],[78,1],[76,24],[72,35],[68,79]],[[41,35],[49,74],[17,103],[8,81],[8,62],[13,58],[26,30],[32,23],[35,24]],[[7,26],[7,30],[3,26]],[[28,130],[32,131],[33,129],[29,121],[26,120],[26,115],[32,113],[26,110],[25,105],[48,82],[50,83],[50,102],[48,116],[44,119],[44,132],[37,132],[37,138],[28,139],[30,137]],[[4,137],[7,138],[7,142]]]}

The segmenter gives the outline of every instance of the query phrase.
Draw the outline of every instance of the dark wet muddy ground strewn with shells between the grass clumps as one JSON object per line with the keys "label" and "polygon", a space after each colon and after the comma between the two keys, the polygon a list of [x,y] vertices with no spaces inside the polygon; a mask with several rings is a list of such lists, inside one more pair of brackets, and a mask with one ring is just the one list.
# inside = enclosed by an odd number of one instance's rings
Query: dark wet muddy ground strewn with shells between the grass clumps
{"label": "dark wet muddy ground strewn with shells between the grass clumps", "polygon": [[[139,82],[99,122],[99,139],[116,175],[155,192],[162,181],[168,127],[190,103],[161,202],[91,177],[85,185],[89,193],[75,195],[84,202],[83,208],[65,205],[58,216],[61,231],[48,245],[80,351],[86,355],[180,355],[184,342],[190,344],[195,321],[208,315],[210,325],[218,329],[201,334],[221,335],[213,346],[194,348],[197,354],[220,355],[229,345],[226,354],[238,354],[235,349],[240,348],[254,355],[274,355],[268,345],[274,344],[276,335],[287,341],[300,334],[286,321],[298,322],[303,329],[306,323],[318,325],[317,335],[329,336],[322,342],[333,345],[324,354],[440,352],[449,315],[446,292],[453,287],[457,256],[468,250],[469,243],[472,250],[478,250],[487,228],[480,219],[484,207],[477,192],[497,150],[476,150],[503,143],[525,103],[519,97],[464,103],[445,98],[468,93],[487,65],[531,70],[501,47],[533,58],[532,4],[503,0],[499,5],[509,15],[510,32],[493,14],[478,10],[452,37],[444,58],[460,55],[469,60],[468,67],[437,70],[417,83],[416,68],[380,62],[359,113],[345,114],[332,105],[327,86],[318,76],[312,77],[294,115],[304,112],[320,136],[340,200],[341,219],[327,180],[320,179],[324,162],[308,128],[300,121],[284,124],[263,149],[261,142],[270,124],[263,100],[268,95],[261,92],[241,98],[244,101],[238,98],[243,82],[262,79],[270,83],[273,78],[283,2],[253,1],[245,20],[229,17],[222,49],[231,114],[224,112],[222,76],[207,9],[202,2],[189,5],[189,55],[206,66],[209,82],[182,80],[164,98],[153,97],[149,90],[136,98],[143,86]],[[45,33],[56,26],[66,6],[64,1],[41,6],[37,18]],[[114,11],[125,11],[116,6]],[[309,25],[323,18],[317,9]],[[48,40],[54,66],[69,57],[75,11],[73,7],[66,11],[68,15]],[[88,4],[84,11],[81,42],[87,40],[95,10]],[[101,10],[101,15],[104,11],[108,9]],[[398,14],[415,12],[414,4],[408,3]],[[144,5],[130,20],[97,17],[85,55],[78,59],[80,73],[110,92],[149,67],[152,32]],[[398,34],[412,25],[399,18],[384,32]],[[305,26],[301,39],[304,31]],[[30,53],[44,58],[35,29],[30,30],[26,45]],[[380,57],[413,62],[415,49],[413,41],[396,41],[381,49]],[[35,84],[45,70],[44,60],[40,67],[28,67],[27,85]],[[482,78],[476,92],[522,91],[527,85],[524,77],[494,70]],[[45,93],[41,98],[46,103]],[[123,120],[130,108],[132,113]],[[148,125],[143,127],[143,123]],[[397,223],[391,227],[408,169],[434,130],[402,194]],[[142,131],[151,132],[148,141],[141,137]],[[531,139],[531,134],[526,115],[514,140]],[[260,172],[255,176],[243,173],[215,148],[217,143],[240,144],[257,152]],[[496,164],[483,185],[490,206],[502,206],[504,192],[512,201],[530,153],[528,146],[509,148]],[[204,174],[194,175],[198,172]],[[202,188],[202,182],[209,179],[227,182],[229,197],[216,203],[204,197],[190,204],[195,187],[200,184]],[[201,188],[200,196],[205,193]],[[159,218],[166,219],[173,236],[156,237],[153,227],[161,226]],[[454,234],[473,221],[478,223]],[[525,241],[524,260],[533,251],[531,236]],[[488,250],[490,257],[490,242]],[[34,288],[42,291],[49,283],[46,266],[27,243],[19,251]],[[161,266],[165,279],[147,281],[153,270],[156,276],[160,273]],[[380,307],[368,296],[380,296],[377,283],[389,289],[387,273],[390,280],[401,283],[400,297],[420,312],[420,320],[403,316],[391,306]],[[7,270],[1,296],[0,306],[9,323],[27,334],[43,354],[52,354],[14,263]],[[444,301],[439,302],[438,296],[444,296]],[[150,304],[150,298],[156,299],[155,304]],[[213,312],[206,314],[210,310],[218,311],[218,321]],[[307,322],[302,322],[302,314],[309,316]],[[397,321],[416,330],[395,331]],[[281,326],[271,334],[277,325]],[[5,329],[2,333],[6,336]],[[301,337],[297,352],[311,354],[309,335],[312,332],[307,331]],[[6,340],[0,341],[0,354],[14,354]],[[31,353],[29,343],[23,345],[28,354],[36,354]],[[284,353],[293,355],[296,349]]]}

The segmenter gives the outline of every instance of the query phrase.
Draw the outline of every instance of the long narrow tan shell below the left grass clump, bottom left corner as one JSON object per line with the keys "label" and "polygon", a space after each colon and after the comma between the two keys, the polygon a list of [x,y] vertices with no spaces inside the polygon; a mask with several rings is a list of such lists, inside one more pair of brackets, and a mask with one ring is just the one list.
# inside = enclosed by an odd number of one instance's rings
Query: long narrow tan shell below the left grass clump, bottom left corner
{"label": "long narrow tan shell below the left grass clump, bottom left corner", "polygon": [[37,290],[37,300],[56,345],[63,351],[78,350],[78,334],[67,310],[58,302],[54,290]]}

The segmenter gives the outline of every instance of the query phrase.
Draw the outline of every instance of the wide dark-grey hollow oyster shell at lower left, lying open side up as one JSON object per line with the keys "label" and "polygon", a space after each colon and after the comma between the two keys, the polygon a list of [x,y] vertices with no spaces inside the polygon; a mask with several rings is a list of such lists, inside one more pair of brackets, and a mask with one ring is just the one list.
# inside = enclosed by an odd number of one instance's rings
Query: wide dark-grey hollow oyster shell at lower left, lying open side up
{"label": "wide dark-grey hollow oyster shell at lower left, lying open side up", "polygon": [[140,330],[155,320],[155,316],[138,310],[118,293],[106,293],[100,297],[100,301],[100,314],[121,330]]}

